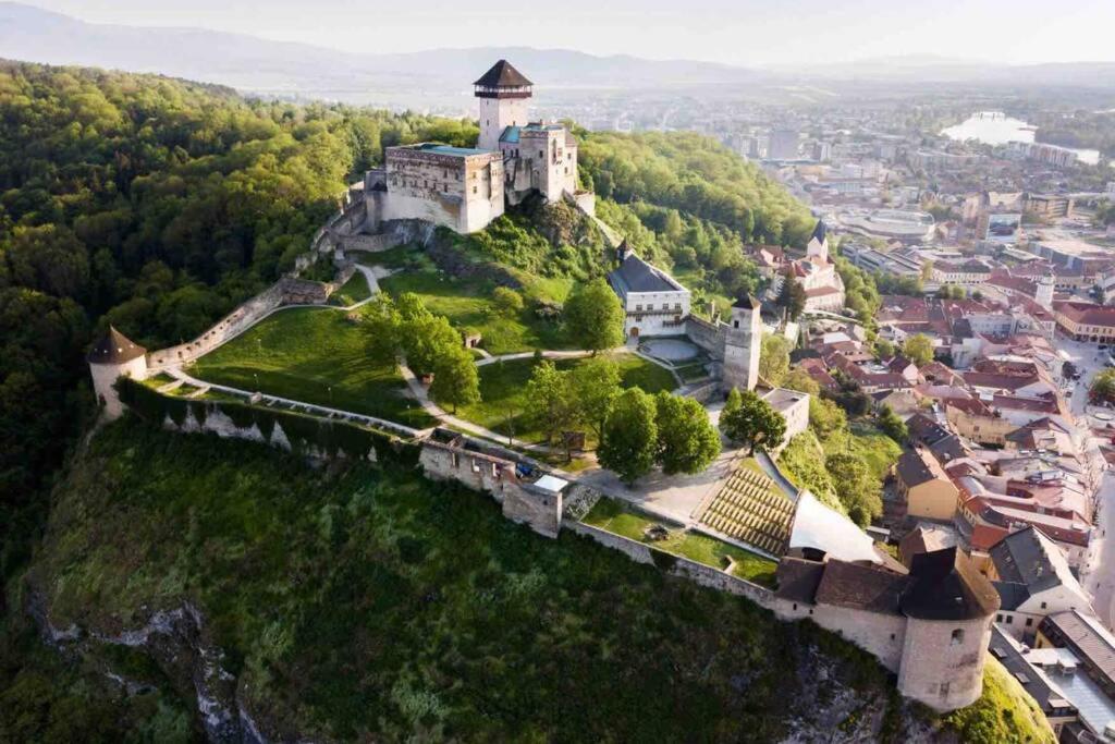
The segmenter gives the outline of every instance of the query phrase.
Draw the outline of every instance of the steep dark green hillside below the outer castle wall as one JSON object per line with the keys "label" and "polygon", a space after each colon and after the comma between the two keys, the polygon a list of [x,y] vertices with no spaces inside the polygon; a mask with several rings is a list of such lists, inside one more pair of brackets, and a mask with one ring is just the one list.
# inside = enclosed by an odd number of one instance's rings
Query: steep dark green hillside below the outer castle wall
{"label": "steep dark green hillside below the outer castle wall", "polygon": [[[217,702],[239,698],[283,738],[765,742],[838,729],[898,742],[962,729],[901,703],[873,659],[812,625],[570,533],[540,538],[487,496],[399,465],[313,468],[129,419],[74,462],[17,586],[55,627],[80,628],[66,656],[36,651],[26,619],[3,636],[25,651],[19,667],[0,664],[0,731],[18,741],[78,725],[84,741],[197,738],[181,664],[197,647],[235,690]],[[91,635],[187,601],[202,631],[171,648]],[[142,692],[123,695],[109,673]],[[1004,700],[975,712],[972,731],[1040,741]]]}

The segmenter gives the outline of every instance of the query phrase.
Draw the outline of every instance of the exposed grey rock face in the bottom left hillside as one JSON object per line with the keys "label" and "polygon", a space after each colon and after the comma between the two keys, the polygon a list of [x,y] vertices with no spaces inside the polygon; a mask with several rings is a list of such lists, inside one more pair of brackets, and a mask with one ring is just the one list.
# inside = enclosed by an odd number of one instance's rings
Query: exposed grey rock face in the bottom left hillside
{"label": "exposed grey rock face in the bottom left hillside", "polygon": [[[263,744],[266,737],[245,709],[236,677],[224,668],[224,654],[210,637],[201,611],[188,601],[151,612],[142,626],[109,632],[72,624],[55,627],[42,596],[29,592],[28,612],[43,640],[68,656],[81,656],[98,644],[126,646],[146,653],[172,682],[183,699],[194,699],[198,719],[211,742]],[[105,673],[128,694],[139,689],[110,669]]]}

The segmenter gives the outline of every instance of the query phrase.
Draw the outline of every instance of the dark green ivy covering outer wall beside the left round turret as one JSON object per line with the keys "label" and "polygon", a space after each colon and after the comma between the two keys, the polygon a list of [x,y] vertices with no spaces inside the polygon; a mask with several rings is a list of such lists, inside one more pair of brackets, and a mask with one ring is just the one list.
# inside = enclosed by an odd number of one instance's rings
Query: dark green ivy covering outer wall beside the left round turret
{"label": "dark green ivy covering outer wall beside the left round turret", "polygon": [[161,426],[169,418],[182,426],[193,414],[198,424],[220,412],[237,428],[254,424],[266,442],[275,426],[282,427],[291,450],[298,454],[326,453],[329,457],[362,458],[375,451],[377,461],[391,461],[407,466],[418,464],[419,447],[397,436],[372,428],[338,421],[306,416],[291,410],[261,408],[229,400],[191,400],[164,395],[128,377],[116,383],[120,402],[140,418]]}

